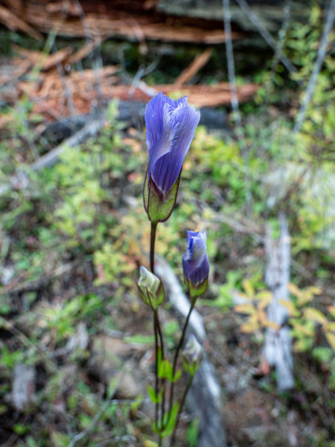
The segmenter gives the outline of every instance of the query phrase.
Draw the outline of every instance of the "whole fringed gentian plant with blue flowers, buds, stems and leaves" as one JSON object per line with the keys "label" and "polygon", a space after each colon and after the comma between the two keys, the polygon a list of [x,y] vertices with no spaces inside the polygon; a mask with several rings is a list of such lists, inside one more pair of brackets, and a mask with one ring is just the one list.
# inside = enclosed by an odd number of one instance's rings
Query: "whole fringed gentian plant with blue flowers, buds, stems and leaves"
{"label": "whole fringed gentian plant with blue flowers, buds, stems and leaves", "polygon": [[[181,169],[188,149],[193,140],[195,129],[200,121],[200,111],[188,104],[187,96],[174,100],[163,93],[157,94],[149,101],[145,110],[147,126],[147,146],[149,163],[145,177],[143,200],[144,208],[151,221],[150,270],[140,268],[140,279],[137,282],[142,300],[152,309],[154,314],[154,335],[156,351],[156,386],[148,386],[151,401],[156,404],[154,432],[158,434],[158,446],[162,439],[177,429],[178,415],[181,412],[188,389],[195,372],[200,367],[203,356],[202,346],[191,335],[185,346],[183,358],[184,369],[190,375],[188,385],[181,400],[174,402],[174,383],[181,376],[176,371],[179,351],[184,343],[188,320],[195,301],[207,288],[209,260],[207,256],[207,235],[204,231],[187,232],[187,252],[182,257],[184,277],[191,299],[191,308],[186,318],[181,339],[171,363],[165,357],[164,341],[159,322],[158,309],[164,300],[164,288],[161,280],[154,274],[154,251],[156,228],[158,222],[167,221],[177,200]],[[170,396],[165,405],[165,394],[170,382]]]}

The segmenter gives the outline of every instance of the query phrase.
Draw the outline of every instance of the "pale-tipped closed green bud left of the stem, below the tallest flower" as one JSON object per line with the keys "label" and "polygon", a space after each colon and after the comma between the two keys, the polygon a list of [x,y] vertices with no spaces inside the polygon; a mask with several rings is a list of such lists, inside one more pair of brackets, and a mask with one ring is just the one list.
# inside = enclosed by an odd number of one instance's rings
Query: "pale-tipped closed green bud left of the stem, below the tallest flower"
{"label": "pale-tipped closed green bud left of the stem, below the tallest flower", "polygon": [[140,267],[140,279],[137,288],[142,300],[149,306],[157,309],[164,300],[164,288],[161,279],[149,272],[143,265]]}

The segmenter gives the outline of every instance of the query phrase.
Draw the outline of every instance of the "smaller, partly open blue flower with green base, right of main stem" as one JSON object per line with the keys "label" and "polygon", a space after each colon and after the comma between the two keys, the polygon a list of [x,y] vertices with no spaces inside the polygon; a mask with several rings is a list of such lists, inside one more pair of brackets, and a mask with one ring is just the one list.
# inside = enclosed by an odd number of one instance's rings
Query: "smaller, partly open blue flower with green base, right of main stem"
{"label": "smaller, partly open blue flower with green base, right of main stem", "polygon": [[207,234],[204,231],[187,232],[187,251],[182,256],[184,277],[191,296],[202,295],[207,288],[209,259],[207,256]]}

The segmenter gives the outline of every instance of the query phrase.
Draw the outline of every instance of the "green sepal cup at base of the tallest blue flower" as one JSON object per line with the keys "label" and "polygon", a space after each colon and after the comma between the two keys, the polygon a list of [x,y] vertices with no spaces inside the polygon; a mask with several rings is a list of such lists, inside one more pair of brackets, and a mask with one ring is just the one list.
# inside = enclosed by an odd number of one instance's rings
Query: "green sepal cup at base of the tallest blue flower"
{"label": "green sepal cup at base of the tallest blue flower", "polygon": [[157,223],[165,222],[169,219],[174,209],[174,205],[176,204],[180,176],[181,170],[176,182],[174,182],[172,188],[164,197],[163,192],[157,188],[151,176],[150,179],[148,179],[148,173],[145,175],[143,203],[149,221]]}

